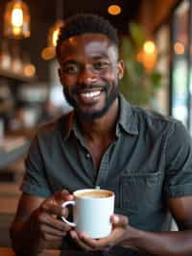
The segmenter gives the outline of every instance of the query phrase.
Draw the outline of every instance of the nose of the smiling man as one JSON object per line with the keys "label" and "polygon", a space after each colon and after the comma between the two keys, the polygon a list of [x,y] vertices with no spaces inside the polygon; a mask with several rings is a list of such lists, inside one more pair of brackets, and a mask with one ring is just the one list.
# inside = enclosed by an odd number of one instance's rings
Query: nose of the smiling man
{"label": "nose of the smiling man", "polygon": [[79,73],[78,82],[79,84],[94,84],[97,81],[97,75],[91,69],[90,66],[84,66],[84,68]]}

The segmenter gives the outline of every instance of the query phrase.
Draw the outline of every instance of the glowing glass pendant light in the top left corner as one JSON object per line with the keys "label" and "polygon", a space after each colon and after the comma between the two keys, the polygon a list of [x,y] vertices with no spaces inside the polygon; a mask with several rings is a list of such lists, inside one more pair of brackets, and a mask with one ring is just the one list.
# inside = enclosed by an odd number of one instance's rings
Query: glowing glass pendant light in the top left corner
{"label": "glowing glass pendant light in the top left corner", "polygon": [[6,6],[4,15],[4,35],[7,38],[29,38],[30,13],[22,0],[12,0]]}

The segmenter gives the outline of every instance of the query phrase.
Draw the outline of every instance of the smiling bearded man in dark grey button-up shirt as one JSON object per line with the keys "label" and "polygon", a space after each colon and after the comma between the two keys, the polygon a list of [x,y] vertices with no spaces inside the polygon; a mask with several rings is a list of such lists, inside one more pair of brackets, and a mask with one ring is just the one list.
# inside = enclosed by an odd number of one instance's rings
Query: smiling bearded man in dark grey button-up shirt
{"label": "smiling bearded man in dark grey button-up shirt", "polygon": [[[182,124],[132,108],[119,93],[124,65],[116,32],[102,17],[66,20],[57,56],[74,111],[42,126],[32,142],[11,228],[14,250],[192,255],[192,148]],[[61,202],[96,186],[115,192],[113,230],[101,240],[60,220],[67,216]],[[169,212],[179,232],[167,230]]]}

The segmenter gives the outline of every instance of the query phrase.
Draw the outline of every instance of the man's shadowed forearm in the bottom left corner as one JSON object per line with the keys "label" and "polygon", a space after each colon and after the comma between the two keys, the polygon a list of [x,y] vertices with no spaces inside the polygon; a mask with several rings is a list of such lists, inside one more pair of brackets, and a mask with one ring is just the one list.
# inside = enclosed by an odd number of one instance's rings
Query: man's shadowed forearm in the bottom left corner
{"label": "man's shadowed forearm in the bottom left corner", "polygon": [[44,249],[57,249],[61,246],[61,238],[48,242],[38,237],[30,221],[15,221],[11,228],[11,239],[14,251],[28,256],[35,256]]}

